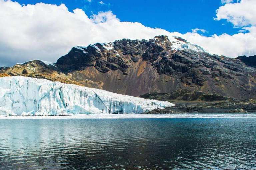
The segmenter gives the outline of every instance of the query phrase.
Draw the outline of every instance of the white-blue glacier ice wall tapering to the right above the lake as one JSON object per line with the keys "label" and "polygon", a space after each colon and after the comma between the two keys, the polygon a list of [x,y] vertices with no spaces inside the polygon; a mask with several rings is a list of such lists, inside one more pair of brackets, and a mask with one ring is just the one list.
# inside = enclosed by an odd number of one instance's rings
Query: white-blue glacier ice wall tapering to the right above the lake
{"label": "white-blue glacier ice wall tapering to the right above the lake", "polygon": [[0,78],[0,115],[143,113],[169,102],[30,77]]}

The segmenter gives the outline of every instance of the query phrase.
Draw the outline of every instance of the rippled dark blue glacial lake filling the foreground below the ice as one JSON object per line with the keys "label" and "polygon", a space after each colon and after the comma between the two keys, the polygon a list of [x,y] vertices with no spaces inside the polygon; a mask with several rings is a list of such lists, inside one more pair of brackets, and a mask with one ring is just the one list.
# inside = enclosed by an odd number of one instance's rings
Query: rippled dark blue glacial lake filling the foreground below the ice
{"label": "rippled dark blue glacial lake filling the foreground below the ice", "polygon": [[256,169],[255,114],[118,116],[0,119],[0,169]]}

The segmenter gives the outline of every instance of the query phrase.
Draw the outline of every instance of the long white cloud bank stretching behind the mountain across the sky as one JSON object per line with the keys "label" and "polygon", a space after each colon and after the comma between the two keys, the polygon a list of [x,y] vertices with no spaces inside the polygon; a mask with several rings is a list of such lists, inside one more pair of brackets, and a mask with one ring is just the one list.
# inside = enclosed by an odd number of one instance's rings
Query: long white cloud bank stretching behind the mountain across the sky
{"label": "long white cloud bank stretching behind the mountain across the sky", "polygon": [[180,34],[138,22],[121,22],[111,11],[88,17],[81,9],[69,12],[64,4],[21,5],[10,0],[0,0],[0,23],[0,66],[32,59],[56,62],[73,46],[156,35],[180,36],[228,57],[256,54],[256,27],[250,26],[243,28],[247,33],[206,37],[197,33],[200,29]]}

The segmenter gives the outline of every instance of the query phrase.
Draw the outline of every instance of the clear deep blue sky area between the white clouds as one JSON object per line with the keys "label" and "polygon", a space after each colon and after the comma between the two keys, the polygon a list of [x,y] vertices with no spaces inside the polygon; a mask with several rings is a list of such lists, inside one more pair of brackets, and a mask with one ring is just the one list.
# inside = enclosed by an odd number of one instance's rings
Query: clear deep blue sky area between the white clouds
{"label": "clear deep blue sky area between the white clouds", "polygon": [[140,22],[152,28],[161,28],[169,32],[185,34],[192,29],[200,28],[208,32],[205,36],[227,33],[236,34],[240,28],[226,20],[215,21],[216,10],[223,5],[221,0],[16,0],[20,4],[36,4],[38,2],[49,4],[64,3],[68,10],[80,8],[90,16],[99,11],[111,10],[120,21]]}

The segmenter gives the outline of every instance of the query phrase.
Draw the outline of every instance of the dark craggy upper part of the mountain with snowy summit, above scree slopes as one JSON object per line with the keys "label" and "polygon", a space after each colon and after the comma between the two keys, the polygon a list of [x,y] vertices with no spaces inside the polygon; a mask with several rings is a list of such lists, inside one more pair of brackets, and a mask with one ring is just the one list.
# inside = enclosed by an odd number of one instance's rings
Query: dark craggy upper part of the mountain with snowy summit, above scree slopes
{"label": "dark craggy upper part of the mountain with snowy summit, above scree slopes", "polygon": [[[59,58],[56,65],[68,70],[94,66],[103,73],[119,69],[126,74],[126,69],[141,58],[153,64],[163,57],[170,58],[177,51],[183,50],[209,55],[202,47],[191,44],[183,38],[160,35],[149,40],[122,39],[109,43],[96,43],[87,47],[74,47],[69,54]],[[106,59],[103,60],[105,57]]]}

